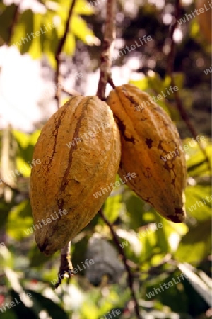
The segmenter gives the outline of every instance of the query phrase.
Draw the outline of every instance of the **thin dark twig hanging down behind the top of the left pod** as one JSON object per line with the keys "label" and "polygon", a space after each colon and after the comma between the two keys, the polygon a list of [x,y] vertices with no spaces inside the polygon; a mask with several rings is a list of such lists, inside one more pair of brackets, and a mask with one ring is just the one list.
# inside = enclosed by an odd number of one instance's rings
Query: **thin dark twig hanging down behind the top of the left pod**
{"label": "thin dark twig hanging down behind the top of the left pod", "polygon": [[56,84],[56,88],[57,88],[56,93],[55,93],[55,99],[57,101],[57,108],[59,108],[59,106],[60,106],[60,96],[61,96],[61,83],[60,83],[61,82],[61,76],[60,76],[61,52],[63,50],[67,35],[69,33],[69,30],[70,30],[70,21],[71,21],[71,16],[72,16],[75,4],[76,4],[76,0],[73,0],[71,2],[71,6],[69,8],[69,14],[68,14],[68,17],[66,20],[66,27],[64,30],[64,35],[61,37],[61,39],[59,41],[59,45],[57,47],[57,52],[55,54],[55,60],[57,62],[56,74],[55,74],[55,84]]}

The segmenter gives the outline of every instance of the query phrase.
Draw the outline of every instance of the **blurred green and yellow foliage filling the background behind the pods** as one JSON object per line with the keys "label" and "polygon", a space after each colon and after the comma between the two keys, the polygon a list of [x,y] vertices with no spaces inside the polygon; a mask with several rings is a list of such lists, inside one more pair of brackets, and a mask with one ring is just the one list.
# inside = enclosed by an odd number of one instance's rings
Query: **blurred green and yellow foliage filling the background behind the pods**
{"label": "blurred green and yellow foliage filling the background behind the pods", "polygon": [[[41,77],[54,84],[55,53],[64,33],[70,1],[30,0],[20,2],[20,6],[18,2],[0,2],[0,46],[16,45],[20,55],[39,59]],[[63,84],[82,94],[86,94],[84,88],[92,81],[92,74],[98,72],[106,1],[96,3],[91,6],[86,0],[76,1],[62,55]],[[194,5],[194,1],[182,2],[182,16],[194,10]],[[170,86],[167,52],[175,1],[123,0],[117,1],[117,7],[112,75],[114,72],[120,82],[122,74],[130,69],[129,81],[139,88],[152,96],[165,92]],[[55,24],[54,28],[49,28],[51,23]],[[17,44],[31,32],[45,30],[45,26],[46,33]],[[151,35],[153,40],[117,57],[118,50],[134,44],[143,35]],[[205,137],[204,148],[209,156],[211,74],[206,75],[204,70],[211,66],[211,45],[206,42],[196,18],[178,26],[174,38],[177,44],[174,77],[179,96],[198,135]],[[83,78],[75,77],[76,72],[81,72]],[[97,89],[98,82],[94,85]],[[71,281],[64,279],[56,291],[53,284],[57,281],[59,252],[46,257],[35,245],[30,231],[33,224],[28,195],[30,163],[40,129],[49,118],[46,110],[55,106],[54,94],[55,86],[53,90],[47,88],[45,96],[40,97],[37,107],[44,113],[41,121],[34,123],[35,130],[1,127],[0,308],[15,298],[22,302],[4,312],[0,309],[0,318],[111,319],[112,309],[121,313],[116,318],[136,318],[122,258],[100,216],[95,216],[73,240],[73,267],[78,265],[81,270]],[[67,94],[62,97],[65,101]],[[183,144],[191,145],[185,151],[186,222],[174,224],[161,218],[123,185],[112,191],[103,210],[119,236],[131,267],[143,318],[211,318],[211,169],[198,143],[192,144],[191,133],[179,116],[172,94],[158,103],[177,124]],[[163,227],[153,230],[154,223],[162,223]],[[86,258],[95,263],[85,270],[82,264]],[[163,283],[173,278],[177,281],[182,272],[187,279],[148,298],[148,293]],[[29,300],[20,298],[24,291],[31,294]]]}

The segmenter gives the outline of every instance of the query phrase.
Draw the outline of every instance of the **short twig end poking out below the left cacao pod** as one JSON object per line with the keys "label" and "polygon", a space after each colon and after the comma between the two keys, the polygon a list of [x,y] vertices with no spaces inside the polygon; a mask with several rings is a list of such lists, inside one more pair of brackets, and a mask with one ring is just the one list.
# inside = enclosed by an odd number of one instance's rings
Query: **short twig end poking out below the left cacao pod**
{"label": "short twig end poking out below the left cacao pod", "polygon": [[60,267],[59,267],[59,273],[58,273],[58,279],[57,284],[55,284],[54,288],[56,289],[61,284],[62,279],[66,275],[68,278],[71,278],[73,276],[73,266],[71,264],[71,242],[69,242],[67,245],[65,245],[61,249],[60,254]]}

